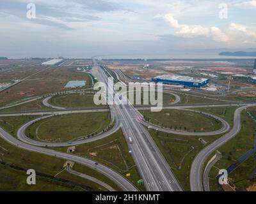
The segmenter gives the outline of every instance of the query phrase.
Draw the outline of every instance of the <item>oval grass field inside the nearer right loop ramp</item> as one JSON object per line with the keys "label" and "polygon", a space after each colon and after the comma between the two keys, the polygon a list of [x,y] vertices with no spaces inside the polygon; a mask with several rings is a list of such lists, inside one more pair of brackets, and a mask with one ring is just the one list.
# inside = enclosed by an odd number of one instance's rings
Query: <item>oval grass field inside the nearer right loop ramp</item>
{"label": "oval grass field inside the nearer right loop ramp", "polygon": [[190,132],[207,132],[221,128],[221,122],[206,115],[186,110],[141,111],[145,119],[170,129]]}

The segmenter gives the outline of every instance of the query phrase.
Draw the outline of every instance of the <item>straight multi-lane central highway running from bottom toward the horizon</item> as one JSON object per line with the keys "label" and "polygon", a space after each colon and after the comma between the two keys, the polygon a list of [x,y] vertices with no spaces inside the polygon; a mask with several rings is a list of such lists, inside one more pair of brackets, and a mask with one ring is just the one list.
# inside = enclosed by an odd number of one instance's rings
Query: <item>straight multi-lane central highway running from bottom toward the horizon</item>
{"label": "straight multi-lane central highway running from bottom toward the horizon", "polygon": [[[108,84],[106,73],[97,66],[95,59],[93,59],[93,64],[100,73],[100,81]],[[119,97],[115,97],[115,92],[112,97],[115,98],[116,103],[120,102]],[[122,130],[147,191],[182,191],[170,166],[166,163],[147,129],[136,120],[140,113],[132,105],[114,104],[111,106],[115,109],[116,119],[122,122]],[[128,142],[129,137],[132,138],[132,143]]]}

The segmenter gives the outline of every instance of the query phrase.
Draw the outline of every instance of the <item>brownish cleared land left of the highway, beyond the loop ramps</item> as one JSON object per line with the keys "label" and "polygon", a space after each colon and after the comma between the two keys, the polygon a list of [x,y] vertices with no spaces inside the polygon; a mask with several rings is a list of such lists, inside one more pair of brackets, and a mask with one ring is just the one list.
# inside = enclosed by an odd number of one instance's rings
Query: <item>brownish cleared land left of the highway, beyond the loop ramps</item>
{"label": "brownish cleared land left of the highway, beyond the loop ramps", "polygon": [[[12,75],[9,77],[12,77]],[[70,80],[85,80],[86,86],[84,88],[92,86],[92,79],[87,73],[77,73],[72,71],[71,68],[66,67],[48,68],[33,75],[29,80],[20,82],[20,84],[17,84],[4,92],[0,92],[0,106],[32,96],[49,94],[51,92],[76,90],[65,89],[65,85]]]}

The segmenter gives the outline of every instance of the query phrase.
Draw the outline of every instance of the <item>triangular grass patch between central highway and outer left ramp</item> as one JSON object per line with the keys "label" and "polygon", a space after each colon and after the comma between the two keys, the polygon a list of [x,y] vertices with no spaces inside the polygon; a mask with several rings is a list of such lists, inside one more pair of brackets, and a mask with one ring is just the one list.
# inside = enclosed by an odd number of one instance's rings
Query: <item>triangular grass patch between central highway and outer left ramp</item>
{"label": "triangular grass patch between central highway and outer left ramp", "polygon": [[[63,152],[67,151],[65,147],[54,149],[62,150]],[[132,156],[129,154],[128,145],[122,130],[102,140],[77,145],[74,154],[106,164],[106,166],[113,168],[113,170],[118,171],[118,173],[124,176],[126,173],[131,173],[129,180],[131,180],[135,186],[137,186],[137,180],[141,179]],[[143,185],[137,187],[141,191],[145,190]]]}

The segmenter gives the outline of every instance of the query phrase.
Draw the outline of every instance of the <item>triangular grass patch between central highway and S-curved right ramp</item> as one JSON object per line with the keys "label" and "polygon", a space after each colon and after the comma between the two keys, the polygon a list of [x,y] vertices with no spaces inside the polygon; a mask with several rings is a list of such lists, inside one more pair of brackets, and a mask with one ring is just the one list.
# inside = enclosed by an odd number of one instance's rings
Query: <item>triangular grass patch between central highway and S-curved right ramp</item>
{"label": "triangular grass patch between central highway and S-curved right ramp", "polygon": [[[205,147],[205,145],[198,140],[200,137],[173,135],[153,129],[150,129],[149,133],[170,165],[173,173],[175,173],[181,186],[184,190],[189,191],[189,170],[191,164],[196,154]],[[209,144],[218,137],[219,136],[204,136],[202,138]]]}

